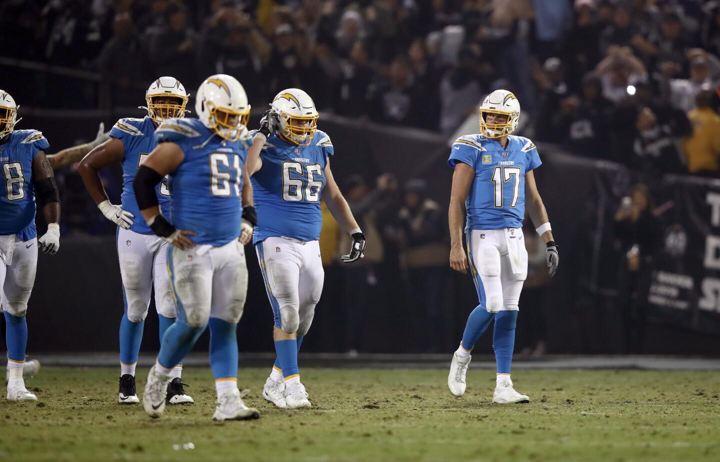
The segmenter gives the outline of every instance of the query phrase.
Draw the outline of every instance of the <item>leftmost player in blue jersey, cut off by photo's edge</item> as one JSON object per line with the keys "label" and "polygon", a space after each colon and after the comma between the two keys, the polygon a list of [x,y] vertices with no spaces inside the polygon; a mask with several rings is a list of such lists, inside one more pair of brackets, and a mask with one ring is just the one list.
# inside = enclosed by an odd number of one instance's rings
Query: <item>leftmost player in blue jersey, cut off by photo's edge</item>
{"label": "leftmost player in blue jersey, cut off by photo's edge", "polygon": [[[51,255],[60,248],[60,194],[43,152],[50,144],[37,130],[15,130],[17,108],[12,96],[0,90],[0,304],[5,317],[10,402],[37,401],[22,378],[25,314],[35,284],[37,248]],[[37,202],[48,222],[48,232],[40,239],[35,229]]]}

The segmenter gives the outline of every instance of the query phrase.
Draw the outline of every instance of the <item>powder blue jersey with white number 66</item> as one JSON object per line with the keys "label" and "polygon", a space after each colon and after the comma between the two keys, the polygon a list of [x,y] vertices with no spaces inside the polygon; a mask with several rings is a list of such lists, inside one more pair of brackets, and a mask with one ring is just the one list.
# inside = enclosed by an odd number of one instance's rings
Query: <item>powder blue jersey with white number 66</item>
{"label": "powder blue jersey with white number 66", "polygon": [[330,137],[320,130],[307,146],[276,135],[268,138],[260,154],[262,168],[251,177],[258,213],[253,244],[271,236],[304,242],[320,239],[320,193],[327,184],[325,166],[333,153]]}

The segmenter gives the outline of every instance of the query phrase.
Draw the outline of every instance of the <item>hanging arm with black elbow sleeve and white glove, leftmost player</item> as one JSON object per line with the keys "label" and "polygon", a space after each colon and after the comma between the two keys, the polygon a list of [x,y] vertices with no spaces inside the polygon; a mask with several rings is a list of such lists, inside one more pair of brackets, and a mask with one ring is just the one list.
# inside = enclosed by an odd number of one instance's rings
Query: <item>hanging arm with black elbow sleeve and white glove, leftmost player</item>
{"label": "hanging arm with black elbow sleeve and white glove, leftmost player", "polygon": [[32,159],[32,182],[35,184],[35,196],[42,204],[42,216],[48,222],[48,231],[37,240],[37,247],[55,255],[60,249],[60,193],[53,168],[42,151]]}

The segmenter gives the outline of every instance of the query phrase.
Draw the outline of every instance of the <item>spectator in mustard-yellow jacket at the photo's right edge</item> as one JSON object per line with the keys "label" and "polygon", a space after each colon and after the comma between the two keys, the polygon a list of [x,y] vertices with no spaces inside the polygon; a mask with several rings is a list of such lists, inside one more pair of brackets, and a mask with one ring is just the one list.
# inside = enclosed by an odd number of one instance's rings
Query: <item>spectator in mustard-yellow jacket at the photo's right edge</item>
{"label": "spectator in mustard-yellow jacket at the photo's right edge", "polygon": [[717,176],[720,171],[720,116],[711,106],[712,98],[712,91],[701,91],[697,107],[688,114],[693,135],[685,140],[683,149],[690,173]]}

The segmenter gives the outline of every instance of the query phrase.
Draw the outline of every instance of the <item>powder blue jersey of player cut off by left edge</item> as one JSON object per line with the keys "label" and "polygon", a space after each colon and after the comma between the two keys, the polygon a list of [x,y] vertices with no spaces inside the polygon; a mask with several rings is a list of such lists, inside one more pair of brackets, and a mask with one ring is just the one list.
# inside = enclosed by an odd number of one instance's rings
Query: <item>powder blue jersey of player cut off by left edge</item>
{"label": "powder blue jersey of player cut off by left edge", "polygon": [[37,236],[32,160],[50,143],[37,130],[14,130],[4,141],[0,142],[0,235],[30,240]]}

